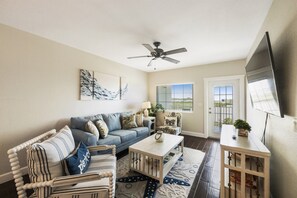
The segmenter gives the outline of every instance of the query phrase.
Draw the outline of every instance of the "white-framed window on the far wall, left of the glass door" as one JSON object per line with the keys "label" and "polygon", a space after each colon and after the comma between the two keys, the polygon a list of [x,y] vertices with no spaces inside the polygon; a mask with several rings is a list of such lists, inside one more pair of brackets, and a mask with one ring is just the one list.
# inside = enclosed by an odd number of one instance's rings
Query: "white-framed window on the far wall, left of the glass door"
{"label": "white-framed window on the far wall, left of the glass door", "polygon": [[157,86],[157,103],[166,110],[193,111],[193,84]]}

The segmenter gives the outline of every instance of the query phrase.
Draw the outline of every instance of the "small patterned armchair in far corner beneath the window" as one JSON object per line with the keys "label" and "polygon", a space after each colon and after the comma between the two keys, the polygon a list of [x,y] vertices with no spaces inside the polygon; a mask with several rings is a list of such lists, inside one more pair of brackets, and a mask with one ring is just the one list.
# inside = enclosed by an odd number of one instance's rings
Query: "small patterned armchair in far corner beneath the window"
{"label": "small patterned armchair in far corner beneath the window", "polygon": [[182,132],[182,114],[158,111],[156,114],[155,128],[157,131],[179,135]]}

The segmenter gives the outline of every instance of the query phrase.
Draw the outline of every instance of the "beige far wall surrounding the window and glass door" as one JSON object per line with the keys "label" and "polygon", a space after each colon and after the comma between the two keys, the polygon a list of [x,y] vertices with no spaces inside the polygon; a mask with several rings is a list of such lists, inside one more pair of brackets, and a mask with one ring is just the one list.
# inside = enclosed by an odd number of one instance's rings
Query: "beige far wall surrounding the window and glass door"
{"label": "beige far wall surrounding the window and glass door", "polygon": [[156,104],[156,86],[173,83],[194,83],[194,111],[183,113],[183,131],[204,135],[204,78],[242,75],[245,61],[238,60],[200,65],[170,71],[149,73],[149,100]]}

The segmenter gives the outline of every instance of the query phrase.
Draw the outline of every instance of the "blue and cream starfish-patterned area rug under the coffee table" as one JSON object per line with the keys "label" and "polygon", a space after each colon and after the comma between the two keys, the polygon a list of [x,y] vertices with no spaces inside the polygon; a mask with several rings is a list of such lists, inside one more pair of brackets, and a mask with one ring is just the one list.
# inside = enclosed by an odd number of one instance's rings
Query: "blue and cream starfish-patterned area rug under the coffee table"
{"label": "blue and cream starfish-patterned area rug under the coffee table", "polygon": [[186,198],[205,153],[184,148],[184,155],[164,178],[164,184],[150,177],[129,172],[129,156],[117,161],[116,198]]}

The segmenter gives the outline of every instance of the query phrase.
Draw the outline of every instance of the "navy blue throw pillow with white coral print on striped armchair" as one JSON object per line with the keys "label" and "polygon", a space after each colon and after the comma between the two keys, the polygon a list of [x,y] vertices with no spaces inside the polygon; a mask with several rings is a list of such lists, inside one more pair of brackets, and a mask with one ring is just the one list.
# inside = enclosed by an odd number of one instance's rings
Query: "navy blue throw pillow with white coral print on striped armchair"
{"label": "navy blue throw pillow with white coral print on striped armchair", "polygon": [[91,154],[86,145],[82,142],[65,158],[66,174],[82,174],[88,170],[91,162]]}

